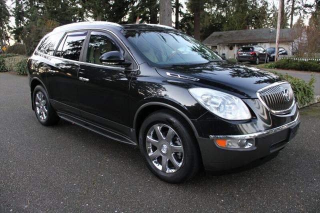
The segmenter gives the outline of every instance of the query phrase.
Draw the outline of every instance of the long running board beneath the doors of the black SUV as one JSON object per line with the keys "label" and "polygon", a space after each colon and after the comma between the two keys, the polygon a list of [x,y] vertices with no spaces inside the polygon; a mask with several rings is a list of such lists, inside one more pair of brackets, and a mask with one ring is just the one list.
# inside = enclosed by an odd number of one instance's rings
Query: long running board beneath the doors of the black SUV
{"label": "long running board beneath the doors of the black SUV", "polygon": [[68,122],[71,122],[71,123],[75,123],[83,128],[86,128],[86,129],[89,129],[91,131],[94,131],[98,134],[101,134],[103,136],[106,136],[110,139],[113,139],[113,140],[116,140],[118,142],[123,142],[123,143],[128,143],[128,144],[131,144],[131,145],[137,145],[135,142],[133,142],[132,140],[118,134],[118,133],[115,133],[113,131],[110,131],[108,129],[105,129],[105,128],[102,128],[98,125],[95,125],[93,123],[90,123],[90,122],[87,122],[87,121],[84,121],[82,119],[79,119],[77,117],[74,117],[74,116],[71,116],[71,115],[68,115],[68,114],[65,114],[65,113],[62,113],[62,112],[56,112],[58,114],[58,116],[60,118],[62,118],[63,120],[66,120]]}

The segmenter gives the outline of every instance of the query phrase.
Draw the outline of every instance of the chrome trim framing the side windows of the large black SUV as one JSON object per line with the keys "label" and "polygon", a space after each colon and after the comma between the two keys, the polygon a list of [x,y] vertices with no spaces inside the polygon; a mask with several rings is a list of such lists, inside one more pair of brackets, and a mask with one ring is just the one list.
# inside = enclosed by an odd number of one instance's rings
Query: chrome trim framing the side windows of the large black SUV
{"label": "chrome trim framing the side windows of the large black SUV", "polygon": [[[39,52],[37,50],[37,48],[35,49],[35,52],[40,54],[40,55],[45,55],[47,57],[53,57],[53,58],[57,58],[57,59],[63,59],[63,60],[67,60],[67,61],[71,61],[71,62],[76,62],[76,63],[81,63],[81,64],[86,64],[86,65],[91,65],[91,66],[98,66],[98,67],[104,67],[104,68],[112,68],[112,69],[119,69],[119,70],[128,70],[128,71],[137,71],[140,69],[140,66],[138,64],[138,62],[136,61],[136,59],[133,57],[132,53],[129,51],[129,49],[126,47],[126,45],[123,43],[123,41],[114,33],[112,32],[111,30],[109,29],[105,29],[105,28],[88,28],[88,27],[85,27],[85,28],[77,28],[77,29],[72,29],[72,30],[66,30],[65,32],[72,32],[72,31],[77,31],[77,30],[94,30],[94,29],[97,29],[97,30],[104,30],[104,31],[107,31],[109,33],[111,33],[121,44],[122,46],[125,48],[125,50],[129,53],[129,55],[132,57],[132,59],[134,60],[134,62],[136,63],[137,65],[137,68],[136,69],[125,69],[124,67],[117,67],[117,66],[107,66],[107,65],[100,65],[100,64],[94,64],[94,63],[88,63],[88,62],[83,62],[83,61],[78,61],[78,60],[70,60],[70,59],[66,59],[66,58],[63,58],[63,57],[57,57],[57,56],[53,56],[53,55],[48,55],[48,54],[45,54],[45,53],[42,53],[42,52]],[[45,36],[44,36],[45,37]],[[43,38],[44,38],[43,37]],[[42,39],[43,39],[42,38]],[[41,41],[42,41],[41,39]],[[40,41],[40,42],[41,42]],[[39,45],[39,44],[38,44]],[[38,47],[38,46],[37,46]]]}

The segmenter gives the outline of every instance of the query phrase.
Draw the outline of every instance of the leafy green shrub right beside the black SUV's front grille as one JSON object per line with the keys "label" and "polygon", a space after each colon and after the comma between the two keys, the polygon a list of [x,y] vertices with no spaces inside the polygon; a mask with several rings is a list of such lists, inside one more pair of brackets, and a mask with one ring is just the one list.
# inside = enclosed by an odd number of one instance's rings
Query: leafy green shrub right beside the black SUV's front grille
{"label": "leafy green shrub right beside the black SUV's front grille", "polygon": [[288,75],[287,73],[281,74],[275,71],[273,71],[273,73],[278,75],[282,80],[290,82],[299,107],[309,104],[314,100],[313,84],[315,82],[315,76],[313,74],[311,74],[311,79],[306,82],[300,78]]}

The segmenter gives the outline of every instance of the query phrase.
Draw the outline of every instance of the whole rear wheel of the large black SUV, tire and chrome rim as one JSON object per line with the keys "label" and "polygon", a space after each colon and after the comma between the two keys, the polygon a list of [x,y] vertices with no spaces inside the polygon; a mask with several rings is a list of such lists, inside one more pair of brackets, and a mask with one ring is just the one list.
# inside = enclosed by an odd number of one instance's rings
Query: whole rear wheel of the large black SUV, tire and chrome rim
{"label": "whole rear wheel of the large black SUV, tire and chrome rim", "polygon": [[50,105],[48,95],[41,85],[35,86],[32,94],[32,104],[36,118],[42,125],[54,125],[59,117]]}

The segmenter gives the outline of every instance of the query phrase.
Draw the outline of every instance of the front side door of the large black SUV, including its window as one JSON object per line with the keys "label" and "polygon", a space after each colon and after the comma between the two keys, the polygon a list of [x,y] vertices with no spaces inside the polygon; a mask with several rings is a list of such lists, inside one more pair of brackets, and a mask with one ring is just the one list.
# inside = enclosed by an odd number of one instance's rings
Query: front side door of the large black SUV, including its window
{"label": "front side door of the large black SUV, including its window", "polygon": [[78,102],[82,117],[104,127],[114,128],[114,122],[128,125],[128,91],[131,71],[124,67],[102,65],[101,54],[120,50],[107,32],[91,31],[83,52],[78,77]]}

